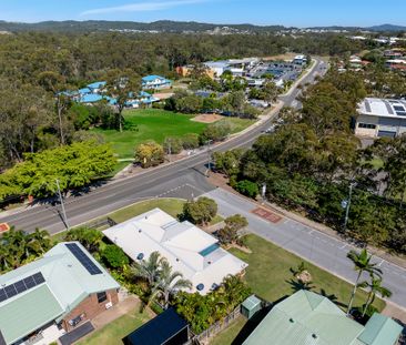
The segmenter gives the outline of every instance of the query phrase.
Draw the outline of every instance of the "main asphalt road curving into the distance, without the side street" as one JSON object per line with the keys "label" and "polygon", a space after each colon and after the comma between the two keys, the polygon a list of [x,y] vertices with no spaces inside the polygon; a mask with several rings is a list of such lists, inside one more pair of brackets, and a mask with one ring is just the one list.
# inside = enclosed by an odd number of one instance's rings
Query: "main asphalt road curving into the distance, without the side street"
{"label": "main asphalt road curving into the distance, without the side street", "polygon": [[[324,67],[325,62],[316,60],[316,64],[301,80],[301,84],[314,82],[316,74],[325,72]],[[281,97],[281,101],[285,105],[300,106],[301,104],[296,101],[300,92],[301,90],[294,85],[286,95]],[[270,126],[271,121],[268,120],[244,134],[213,146],[212,151],[250,146]],[[209,185],[204,177],[206,163],[207,152],[202,152],[183,161],[173,162],[143,174],[102,185],[82,195],[70,196],[65,199],[69,225],[82,224],[145,197],[159,195],[190,197],[192,193],[196,196],[211,191],[213,186]],[[62,219],[59,205],[44,203],[28,206],[12,215],[0,215],[0,223],[7,222],[17,229],[29,232],[40,227],[48,230],[50,233],[57,233],[65,229],[67,224],[62,222]]]}

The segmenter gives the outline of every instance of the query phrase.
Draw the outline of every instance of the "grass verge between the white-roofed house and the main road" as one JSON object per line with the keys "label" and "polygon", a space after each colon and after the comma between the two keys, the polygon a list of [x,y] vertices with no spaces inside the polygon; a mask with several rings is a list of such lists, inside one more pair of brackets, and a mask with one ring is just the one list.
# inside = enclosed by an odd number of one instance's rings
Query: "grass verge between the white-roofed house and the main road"
{"label": "grass verge between the white-roofed house and the main road", "polygon": [[110,213],[109,216],[118,223],[122,223],[129,219],[140,215],[144,212],[151,211],[152,209],[159,207],[170,215],[176,217],[177,214],[182,213],[184,200],[181,199],[152,199],[141,201],[136,204],[128,206],[125,209]]}

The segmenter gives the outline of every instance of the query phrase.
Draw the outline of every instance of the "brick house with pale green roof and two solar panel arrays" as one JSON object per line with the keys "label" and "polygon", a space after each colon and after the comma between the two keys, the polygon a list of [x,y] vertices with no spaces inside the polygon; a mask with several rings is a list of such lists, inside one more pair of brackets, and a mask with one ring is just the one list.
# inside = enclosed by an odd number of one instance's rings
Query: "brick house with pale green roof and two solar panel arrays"
{"label": "brick house with pale green roof and two solar panel arrays", "polygon": [[[120,285],[79,242],[0,276],[0,344],[57,338],[118,302]],[[50,342],[57,338],[49,339]]]}

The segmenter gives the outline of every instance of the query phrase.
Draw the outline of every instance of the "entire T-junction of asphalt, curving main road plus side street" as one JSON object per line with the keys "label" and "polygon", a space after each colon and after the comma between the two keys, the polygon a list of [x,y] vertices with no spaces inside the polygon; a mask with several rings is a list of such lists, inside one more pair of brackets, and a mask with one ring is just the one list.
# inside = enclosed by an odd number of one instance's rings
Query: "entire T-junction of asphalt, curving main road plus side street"
{"label": "entire T-junction of asphalt, curving main road plus side street", "polygon": [[[301,84],[313,83],[315,75],[325,73],[325,62],[317,60],[312,72],[301,81]],[[294,87],[288,94],[280,99],[284,105],[301,108],[302,104],[296,100],[301,90]],[[212,148],[212,151],[250,146],[270,126],[272,120],[274,119]],[[224,216],[235,213],[243,214],[250,222],[251,231],[260,236],[349,282],[355,281],[353,266],[346,258],[346,253],[352,248],[349,244],[292,220],[285,219],[278,224],[272,224],[252,214],[250,211],[255,207],[253,203],[223,190],[214,189],[207,183],[204,175],[206,162],[207,152],[201,152],[186,160],[102,185],[83,195],[70,196],[65,200],[69,225],[79,225],[143,199],[163,196],[191,199],[206,193],[216,200],[220,213]],[[26,231],[41,227],[47,229],[50,233],[57,233],[65,229],[60,206],[49,203],[29,206],[13,215],[0,215],[1,222]],[[406,307],[406,271],[382,258],[377,258],[377,261],[384,271],[385,286],[394,293],[390,301]]]}

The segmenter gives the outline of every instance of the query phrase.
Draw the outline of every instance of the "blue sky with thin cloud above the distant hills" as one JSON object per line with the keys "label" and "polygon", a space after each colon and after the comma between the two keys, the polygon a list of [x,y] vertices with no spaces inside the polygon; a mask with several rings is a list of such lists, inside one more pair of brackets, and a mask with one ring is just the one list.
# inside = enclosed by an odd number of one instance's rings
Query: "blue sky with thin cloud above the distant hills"
{"label": "blue sky with thin cloud above the distant hills", "polygon": [[0,20],[161,19],[213,23],[406,26],[405,0],[0,0]]}

